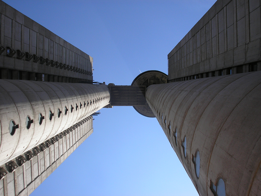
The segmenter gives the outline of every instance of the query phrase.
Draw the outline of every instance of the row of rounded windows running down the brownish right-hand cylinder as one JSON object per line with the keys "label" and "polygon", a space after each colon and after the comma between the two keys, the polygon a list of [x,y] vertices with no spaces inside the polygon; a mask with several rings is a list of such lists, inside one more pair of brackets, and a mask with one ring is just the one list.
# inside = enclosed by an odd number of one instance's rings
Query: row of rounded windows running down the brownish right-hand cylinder
{"label": "row of rounded windows running down the brownish right-hand cylinder", "polygon": [[[151,105],[153,106],[152,102],[149,100],[149,102],[151,103]],[[160,112],[158,112],[158,109],[156,109],[156,107],[154,107],[154,110],[157,110],[157,117],[161,116],[161,123],[165,126],[165,129],[167,128],[167,117],[165,116],[165,118],[163,118],[163,114],[160,115]],[[169,136],[171,136],[171,122],[169,122],[168,125],[168,131],[169,131]],[[177,128],[175,128],[175,131],[173,131],[173,137],[175,140],[175,145],[177,146]],[[184,136],[183,141],[181,141],[181,147],[183,148],[183,154],[184,157],[187,157],[187,138],[186,136]],[[197,151],[195,153],[195,156],[192,154],[192,163],[194,164],[194,169],[195,169],[195,174],[197,176],[197,178],[199,178],[199,172],[200,172],[200,154],[199,151]],[[224,180],[222,178],[218,178],[216,185],[214,185],[212,183],[212,181],[210,181],[210,189],[212,191],[212,193],[215,196],[226,196],[226,189],[225,189],[225,183]]]}

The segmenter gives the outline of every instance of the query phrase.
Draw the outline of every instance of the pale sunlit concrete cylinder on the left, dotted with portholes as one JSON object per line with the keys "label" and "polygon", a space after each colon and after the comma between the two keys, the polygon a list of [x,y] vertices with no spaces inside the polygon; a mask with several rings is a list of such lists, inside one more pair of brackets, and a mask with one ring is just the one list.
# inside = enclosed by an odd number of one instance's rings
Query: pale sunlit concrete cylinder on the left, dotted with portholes
{"label": "pale sunlit concrete cylinder on the left, dotted with portholes", "polygon": [[[1,80],[0,165],[90,116],[109,100],[107,85]],[[39,113],[45,117],[41,124]],[[28,117],[33,120],[29,128]],[[19,124],[13,135],[11,120]]]}

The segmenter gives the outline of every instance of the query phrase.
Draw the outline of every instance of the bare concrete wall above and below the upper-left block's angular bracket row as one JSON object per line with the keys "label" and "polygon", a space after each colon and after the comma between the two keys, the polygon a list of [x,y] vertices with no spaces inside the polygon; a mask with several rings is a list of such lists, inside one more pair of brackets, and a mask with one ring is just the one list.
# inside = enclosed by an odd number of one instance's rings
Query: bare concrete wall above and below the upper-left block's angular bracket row
{"label": "bare concrete wall above and below the upper-left block's angular bracket row", "polygon": [[17,59],[17,54],[13,57],[4,56],[7,50],[0,55],[0,67],[92,81],[91,56],[1,0],[0,7],[0,44],[4,48],[12,47],[15,51],[21,50],[44,59],[48,58],[50,61],[86,70],[90,74],[39,64],[39,61],[27,61],[25,57],[20,60]]}

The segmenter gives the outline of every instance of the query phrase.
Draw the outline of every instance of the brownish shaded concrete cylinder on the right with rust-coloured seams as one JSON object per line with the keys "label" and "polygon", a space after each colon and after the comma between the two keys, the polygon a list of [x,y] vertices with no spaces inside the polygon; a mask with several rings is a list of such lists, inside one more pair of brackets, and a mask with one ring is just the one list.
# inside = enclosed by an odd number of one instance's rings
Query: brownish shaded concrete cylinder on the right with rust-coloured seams
{"label": "brownish shaded concrete cylinder on the right with rust-coloured seams", "polygon": [[[199,195],[260,195],[261,72],[151,85],[146,100]],[[186,136],[186,157],[182,142]],[[197,177],[193,156],[200,153]],[[250,193],[250,194],[249,194]]]}

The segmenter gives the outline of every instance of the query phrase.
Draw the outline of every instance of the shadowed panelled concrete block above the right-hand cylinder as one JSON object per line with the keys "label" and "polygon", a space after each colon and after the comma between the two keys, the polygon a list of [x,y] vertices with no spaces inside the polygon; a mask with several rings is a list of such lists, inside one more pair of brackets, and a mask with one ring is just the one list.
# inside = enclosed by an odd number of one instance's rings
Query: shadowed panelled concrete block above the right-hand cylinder
{"label": "shadowed panelled concrete block above the right-hand cylinder", "polygon": [[218,0],[168,54],[169,80],[257,61],[260,70],[260,15],[260,0]]}

